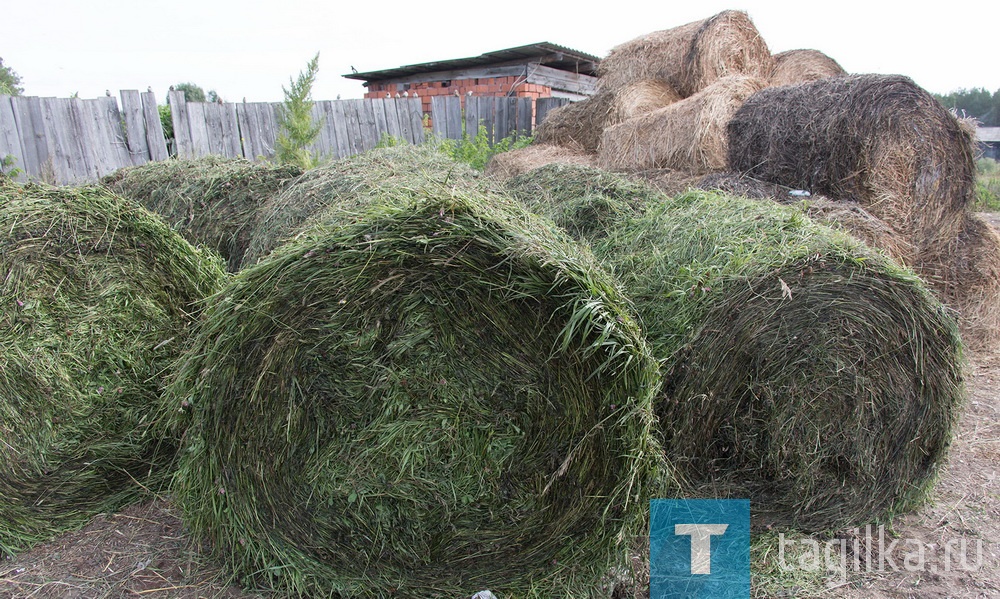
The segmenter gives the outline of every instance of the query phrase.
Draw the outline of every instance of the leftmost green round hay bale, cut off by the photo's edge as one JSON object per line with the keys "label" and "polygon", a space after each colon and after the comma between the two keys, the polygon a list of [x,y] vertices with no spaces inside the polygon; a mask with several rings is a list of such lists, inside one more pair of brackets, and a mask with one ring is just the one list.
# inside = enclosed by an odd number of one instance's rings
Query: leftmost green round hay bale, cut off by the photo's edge
{"label": "leftmost green round hay bale, cut off by the photo's edge", "polygon": [[161,378],[224,273],[99,187],[0,181],[0,231],[3,554],[164,482]]}

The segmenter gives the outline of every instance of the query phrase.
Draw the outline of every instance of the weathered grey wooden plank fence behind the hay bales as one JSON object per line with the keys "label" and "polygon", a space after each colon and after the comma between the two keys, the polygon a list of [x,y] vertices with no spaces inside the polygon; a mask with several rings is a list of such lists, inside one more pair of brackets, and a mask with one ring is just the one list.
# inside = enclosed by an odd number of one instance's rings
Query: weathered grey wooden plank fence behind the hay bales
{"label": "weathered grey wooden plank fence behind the hay bales", "polygon": [[[170,155],[250,160],[274,156],[280,102],[185,102],[183,93],[170,92],[174,140],[168,149],[153,93],[123,90],[120,95],[120,110],[113,96],[93,100],[0,96],[0,158],[13,157],[5,170],[20,169],[22,181],[73,185]],[[430,133],[461,139],[466,131],[474,136],[481,125],[492,144],[530,135],[549,110],[567,102],[433,98]],[[321,127],[311,150],[327,158],[364,152],[387,135],[423,143],[428,133],[419,98],[319,101],[313,105],[313,116]]]}

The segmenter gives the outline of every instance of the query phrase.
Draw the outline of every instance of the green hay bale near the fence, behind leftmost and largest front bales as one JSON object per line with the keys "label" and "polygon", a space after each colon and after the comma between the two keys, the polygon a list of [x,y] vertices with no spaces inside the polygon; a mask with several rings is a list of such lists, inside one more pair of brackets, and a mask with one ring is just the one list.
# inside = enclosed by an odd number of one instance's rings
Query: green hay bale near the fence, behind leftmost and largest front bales
{"label": "green hay bale near the fence, behind leftmost and largest front bales", "polygon": [[219,252],[236,272],[258,209],[301,174],[292,165],[206,156],[124,168],[102,183],[161,215],[191,243]]}

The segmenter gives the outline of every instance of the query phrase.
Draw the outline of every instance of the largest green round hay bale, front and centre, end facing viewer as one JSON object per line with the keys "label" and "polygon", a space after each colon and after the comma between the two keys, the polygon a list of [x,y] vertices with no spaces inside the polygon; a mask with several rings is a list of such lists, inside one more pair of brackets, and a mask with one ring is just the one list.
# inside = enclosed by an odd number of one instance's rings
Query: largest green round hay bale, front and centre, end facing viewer
{"label": "largest green round hay bale, front and centre, end facing viewer", "polygon": [[329,208],[236,276],[172,385],[188,525],[293,593],[601,593],[666,476],[627,300],[453,163],[339,168],[305,189],[363,193],[306,199]]}

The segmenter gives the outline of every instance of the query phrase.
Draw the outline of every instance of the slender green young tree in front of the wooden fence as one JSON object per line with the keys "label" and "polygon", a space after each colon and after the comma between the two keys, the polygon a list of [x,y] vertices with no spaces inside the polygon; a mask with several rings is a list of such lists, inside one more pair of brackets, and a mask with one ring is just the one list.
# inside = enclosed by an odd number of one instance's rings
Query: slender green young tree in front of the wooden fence
{"label": "slender green young tree in front of the wooden fence", "polygon": [[282,87],[285,101],[278,109],[278,138],[275,154],[280,164],[295,164],[303,169],[316,166],[316,157],[309,146],[316,141],[322,123],[312,118],[312,86],[319,70],[319,52],[313,56],[299,78],[289,78],[289,87]]}

